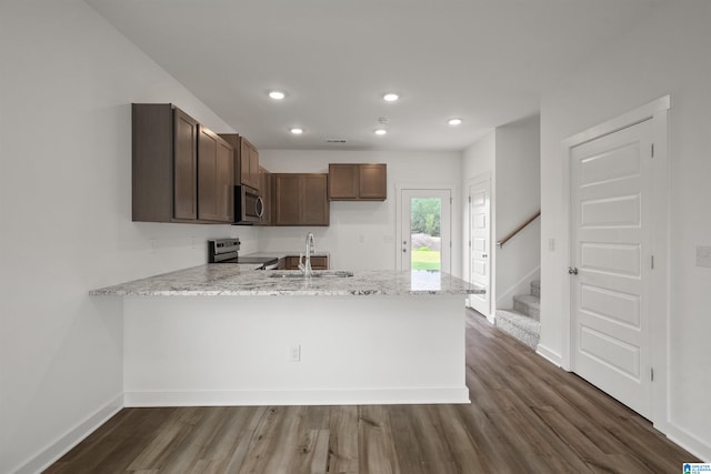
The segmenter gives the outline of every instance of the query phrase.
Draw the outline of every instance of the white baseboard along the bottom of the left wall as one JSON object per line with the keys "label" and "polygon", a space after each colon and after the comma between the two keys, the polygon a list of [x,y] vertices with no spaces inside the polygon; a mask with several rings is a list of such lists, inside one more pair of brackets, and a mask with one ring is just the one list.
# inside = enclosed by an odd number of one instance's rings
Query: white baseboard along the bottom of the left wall
{"label": "white baseboard along the bottom of the left wall", "polygon": [[104,424],[111,416],[116,415],[121,409],[123,409],[123,394],[118,395],[83,422],[59,436],[53,443],[49,444],[13,472],[16,474],[33,474],[44,471],[53,462],[93,433],[99,426]]}

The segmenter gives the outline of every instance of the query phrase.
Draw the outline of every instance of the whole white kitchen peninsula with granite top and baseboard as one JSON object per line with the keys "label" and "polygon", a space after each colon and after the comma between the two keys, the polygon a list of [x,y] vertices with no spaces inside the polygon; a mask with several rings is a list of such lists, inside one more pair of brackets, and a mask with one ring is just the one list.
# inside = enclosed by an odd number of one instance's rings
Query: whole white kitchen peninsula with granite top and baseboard
{"label": "whole white kitchen peninsula with granite top and baseboard", "polygon": [[207,264],[92,291],[122,297],[126,406],[469,401],[464,297],[483,290],[298,273]]}

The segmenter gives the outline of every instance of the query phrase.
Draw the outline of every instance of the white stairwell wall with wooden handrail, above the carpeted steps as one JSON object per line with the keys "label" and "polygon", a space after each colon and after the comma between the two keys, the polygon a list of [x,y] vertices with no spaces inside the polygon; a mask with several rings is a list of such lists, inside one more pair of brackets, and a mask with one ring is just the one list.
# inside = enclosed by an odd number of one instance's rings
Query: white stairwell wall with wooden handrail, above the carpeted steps
{"label": "white stairwell wall with wooden handrail, above the carpeted steps", "polygon": [[[538,115],[497,128],[494,242],[540,209],[540,130]],[[540,220],[531,222],[502,248],[492,246],[495,307],[512,307],[513,295],[529,293],[531,281],[539,276],[540,246]]]}

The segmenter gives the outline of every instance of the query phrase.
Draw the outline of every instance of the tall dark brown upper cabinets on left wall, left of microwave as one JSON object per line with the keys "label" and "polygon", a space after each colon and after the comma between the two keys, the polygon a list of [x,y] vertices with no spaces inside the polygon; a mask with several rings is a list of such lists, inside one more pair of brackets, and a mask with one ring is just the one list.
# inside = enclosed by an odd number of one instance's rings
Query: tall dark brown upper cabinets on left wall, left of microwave
{"label": "tall dark brown upper cabinets on left wall, left of microwave", "polygon": [[131,114],[132,220],[232,222],[229,143],[170,103],[134,103]]}

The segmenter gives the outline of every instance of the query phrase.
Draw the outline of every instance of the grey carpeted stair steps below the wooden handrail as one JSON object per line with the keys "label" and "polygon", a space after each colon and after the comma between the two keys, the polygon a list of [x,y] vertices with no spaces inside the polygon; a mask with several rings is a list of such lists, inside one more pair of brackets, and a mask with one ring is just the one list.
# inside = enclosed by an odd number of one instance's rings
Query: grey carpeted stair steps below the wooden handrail
{"label": "grey carpeted stair steps below the wooden handrail", "polygon": [[529,347],[535,350],[541,334],[541,281],[531,282],[530,294],[513,296],[513,307],[497,310],[495,324]]}

